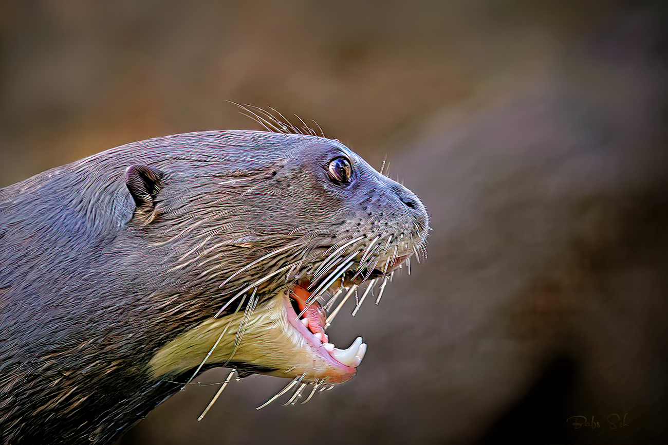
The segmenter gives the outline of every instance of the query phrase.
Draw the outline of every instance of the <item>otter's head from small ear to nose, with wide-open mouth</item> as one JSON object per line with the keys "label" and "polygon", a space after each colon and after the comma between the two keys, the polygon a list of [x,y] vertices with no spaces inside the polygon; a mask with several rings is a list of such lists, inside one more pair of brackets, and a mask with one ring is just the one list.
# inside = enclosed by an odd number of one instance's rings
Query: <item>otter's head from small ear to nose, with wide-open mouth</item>
{"label": "otter's head from small ear to nose, with wide-open mouth", "polygon": [[[170,144],[194,137],[174,136]],[[128,170],[134,235],[169,253],[162,261],[173,289],[165,295],[178,295],[178,306],[198,288],[197,299],[217,305],[156,352],[152,373],[215,364],[320,385],[349,380],[366,345],[358,338],[338,349],[325,329],[339,302],[353,293],[363,301],[375,285],[382,290],[424,249],[424,206],[337,140],[264,132],[196,137],[205,155],[198,148],[187,176],[175,173],[186,171],[176,153],[171,168],[164,161]]]}

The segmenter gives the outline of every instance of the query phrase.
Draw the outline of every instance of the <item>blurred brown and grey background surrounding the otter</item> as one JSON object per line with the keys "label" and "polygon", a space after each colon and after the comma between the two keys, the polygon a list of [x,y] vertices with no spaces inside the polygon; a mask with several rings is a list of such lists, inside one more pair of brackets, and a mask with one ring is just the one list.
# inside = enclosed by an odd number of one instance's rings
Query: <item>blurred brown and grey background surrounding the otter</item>
{"label": "blurred brown and grey background surrounding the otter", "polygon": [[428,259],[330,329],[369,344],[351,382],[258,412],[287,382],[251,376],[196,422],[213,370],[119,443],[668,442],[667,12],[1,1],[0,186],[154,136],[258,129],[231,100],[387,157],[432,218]]}

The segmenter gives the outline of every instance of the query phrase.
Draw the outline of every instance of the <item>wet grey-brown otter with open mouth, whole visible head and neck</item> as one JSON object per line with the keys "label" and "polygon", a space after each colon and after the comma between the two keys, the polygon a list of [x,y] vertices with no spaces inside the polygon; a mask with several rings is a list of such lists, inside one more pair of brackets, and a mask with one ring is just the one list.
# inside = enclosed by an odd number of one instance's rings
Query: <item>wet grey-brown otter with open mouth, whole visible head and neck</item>
{"label": "wet grey-brown otter with open mouth, whole visible head and neck", "polygon": [[427,232],[415,194],[313,134],[177,134],[2,188],[3,443],[109,443],[211,367],[345,382],[366,345],[329,343],[340,301]]}

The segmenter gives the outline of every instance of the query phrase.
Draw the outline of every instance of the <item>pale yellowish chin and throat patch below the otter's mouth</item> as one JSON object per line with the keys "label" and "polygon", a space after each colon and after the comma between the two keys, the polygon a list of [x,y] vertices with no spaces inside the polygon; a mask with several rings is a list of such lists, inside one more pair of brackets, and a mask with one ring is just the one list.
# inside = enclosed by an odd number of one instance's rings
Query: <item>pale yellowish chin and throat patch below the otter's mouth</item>
{"label": "pale yellowish chin and throat patch below the otter's mouth", "polygon": [[[289,305],[287,293],[281,291],[246,314],[246,319],[244,311],[207,319],[154,355],[148,364],[152,375],[162,378],[182,374],[200,366],[210,353],[206,359],[209,364],[247,363],[275,369],[263,373],[271,376],[303,376],[303,382],[337,384],[352,378],[354,367],[333,360],[289,322],[288,313],[293,312]],[[242,335],[237,336],[238,332]]]}

